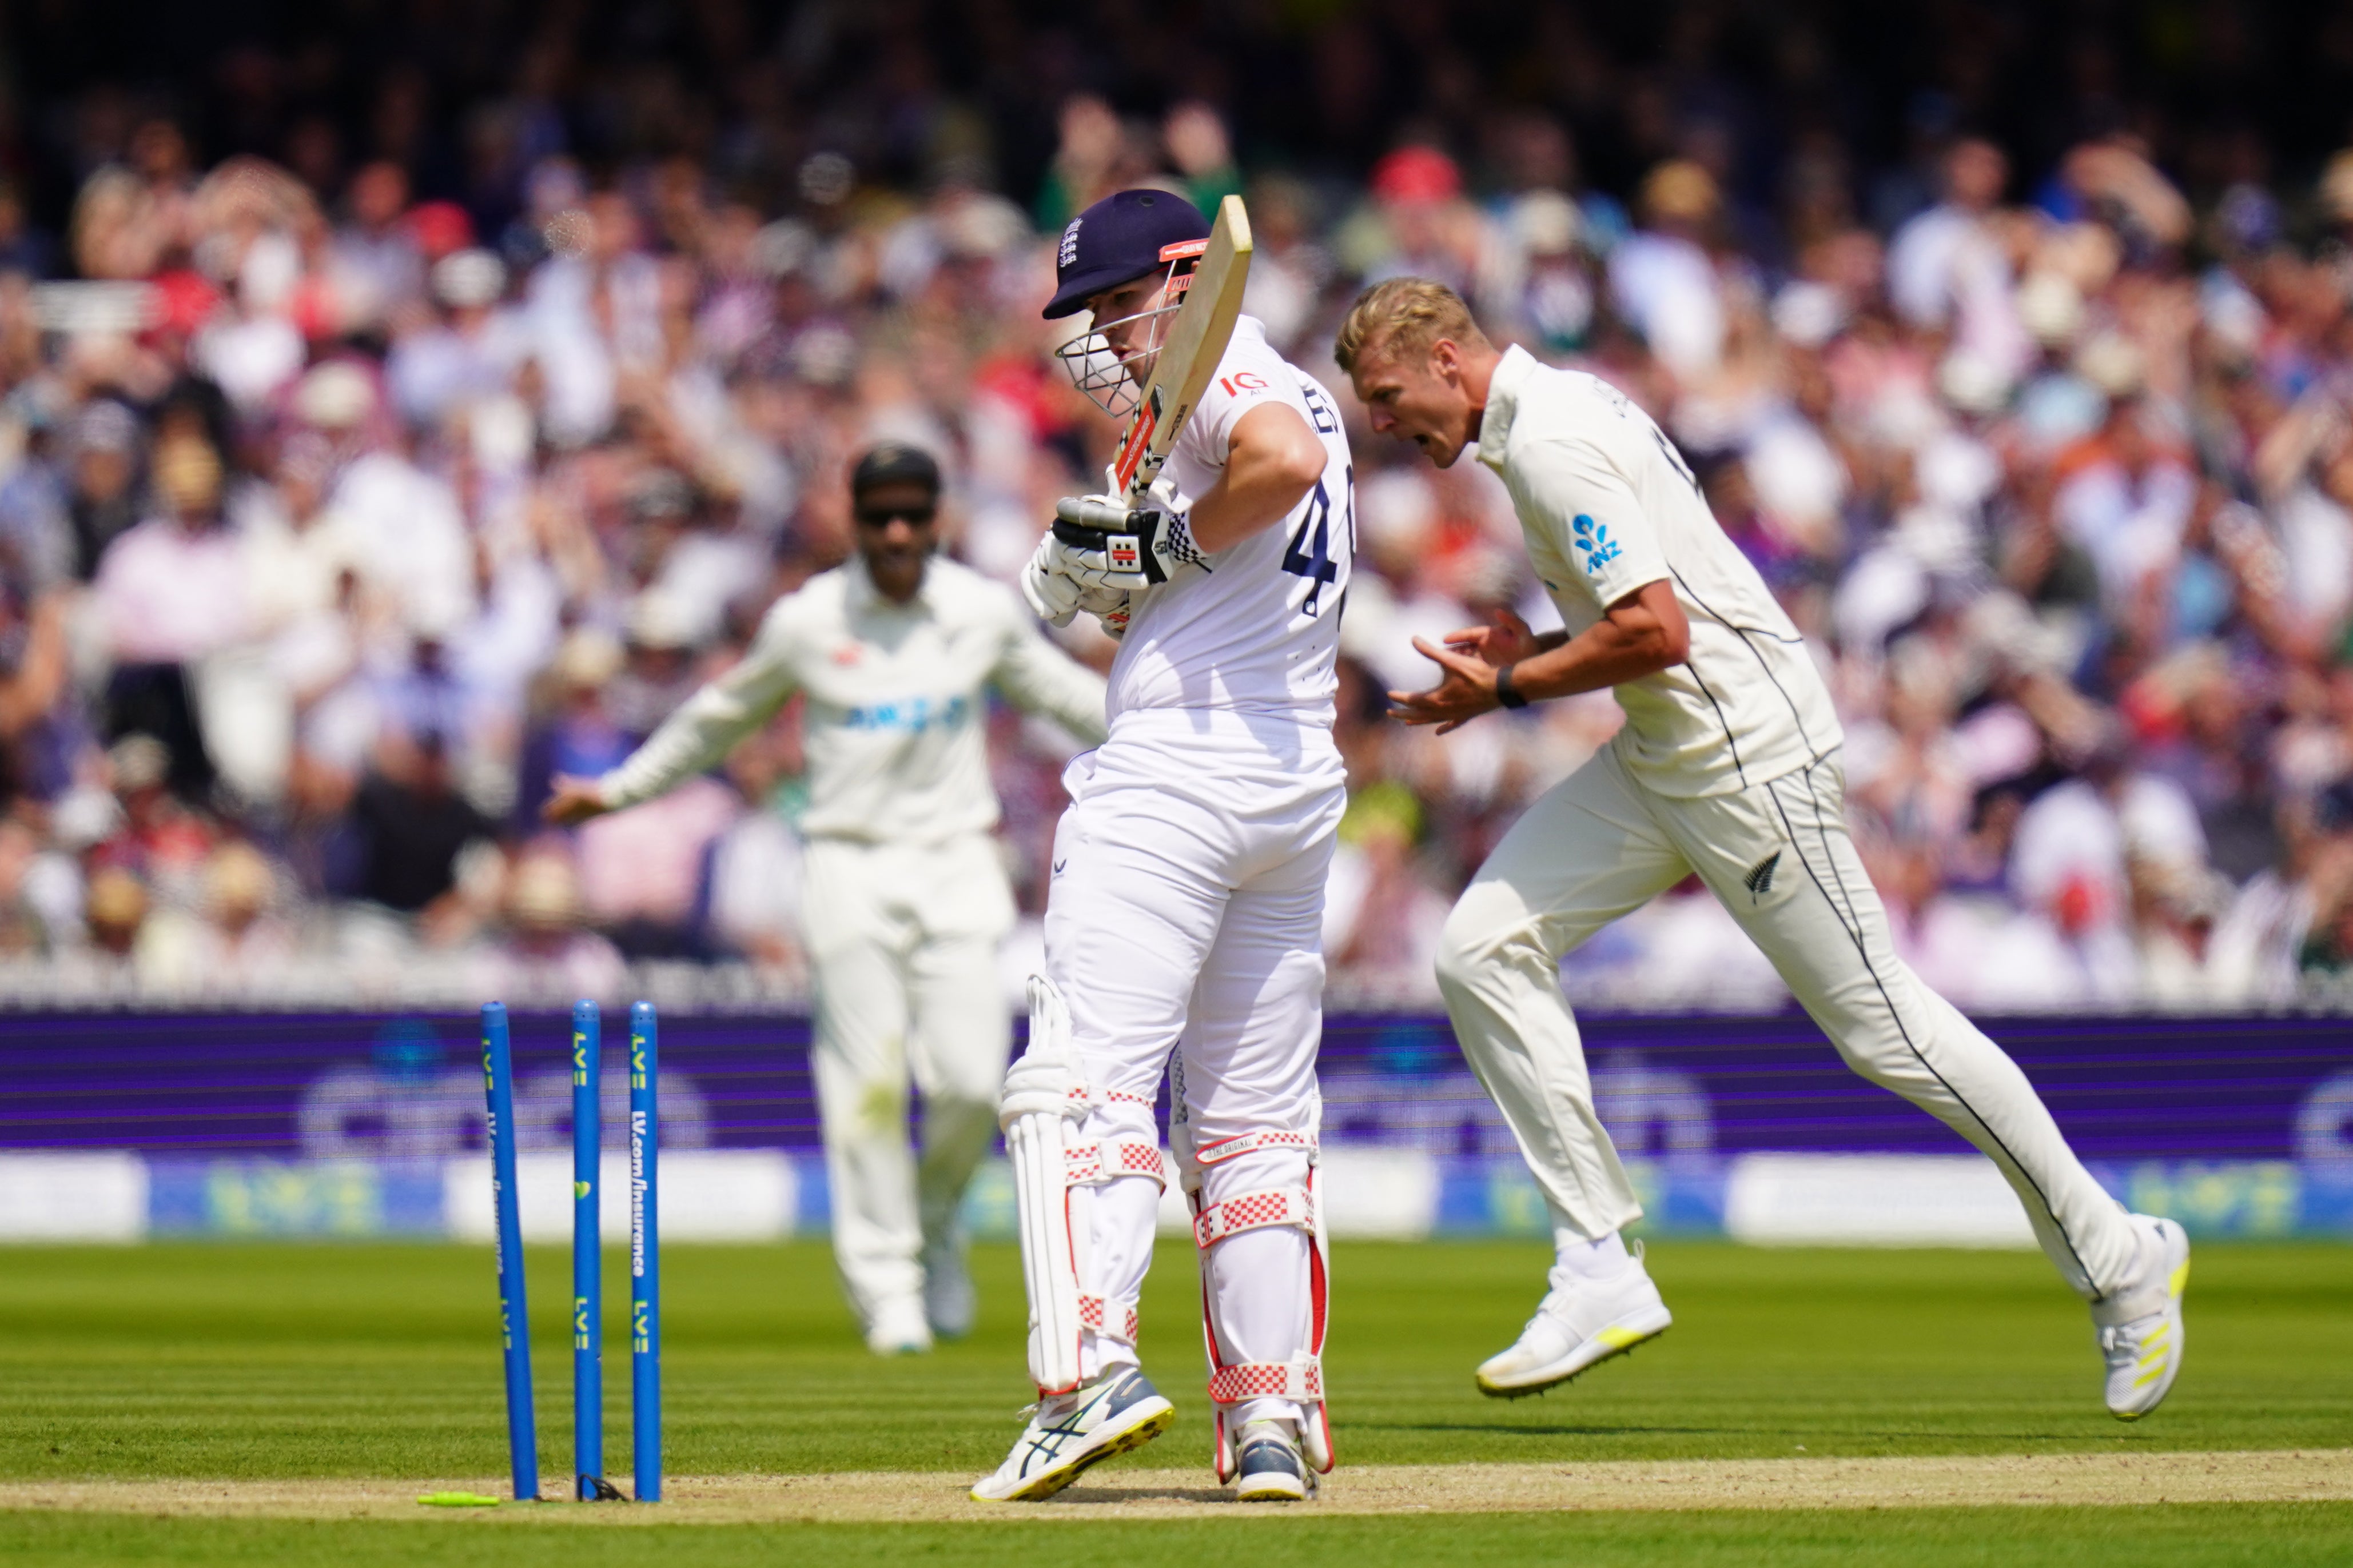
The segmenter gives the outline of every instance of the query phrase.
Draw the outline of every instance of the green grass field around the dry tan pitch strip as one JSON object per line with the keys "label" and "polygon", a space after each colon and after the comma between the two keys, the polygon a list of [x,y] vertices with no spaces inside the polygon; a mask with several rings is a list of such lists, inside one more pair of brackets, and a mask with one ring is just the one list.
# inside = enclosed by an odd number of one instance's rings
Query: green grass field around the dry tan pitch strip
{"label": "green grass field around the dry tan pitch strip", "polygon": [[[1165,1248],[1144,1305],[1146,1371],[1179,1403],[1151,1465],[1202,1465],[1191,1248]],[[2353,1446],[2353,1248],[2202,1246],[2188,1366],[2125,1427],[2099,1406],[2082,1307],[2024,1253],[1751,1251],[1666,1241],[1652,1272],[1675,1328],[1546,1399],[1499,1403],[1471,1368],[1541,1291],[1534,1244],[1344,1244],[1329,1385],[1344,1465],[1798,1455],[2132,1453]],[[668,1472],[993,1467],[1028,1385],[1012,1248],[981,1248],[979,1333],[873,1361],[821,1246],[671,1246]],[[572,1448],[562,1248],[534,1251],[532,1328],[546,1488]],[[607,1265],[607,1453],[628,1455],[626,1279]],[[0,1251],[0,1481],[489,1476],[506,1467],[485,1248],[144,1246]],[[424,1514],[424,1512],[421,1512]],[[511,1512],[494,1519],[504,1526]],[[1365,1563],[1581,1561],[2353,1561],[2353,1507],[1889,1509],[1817,1514],[1482,1514],[1104,1521],[1129,1559]],[[831,1561],[995,1561],[1068,1526],[671,1526],[654,1535],[416,1523],[0,1519],[7,1561],[614,1561],[654,1542],[699,1563],[772,1559],[805,1533]],[[1120,1537],[1120,1540],[1111,1540]],[[635,1542],[635,1544],[633,1544]],[[819,1544],[821,1542],[821,1544]],[[1042,1547],[1028,1549],[1035,1556]],[[661,1549],[656,1556],[673,1556]],[[647,1559],[652,1561],[652,1559]]]}

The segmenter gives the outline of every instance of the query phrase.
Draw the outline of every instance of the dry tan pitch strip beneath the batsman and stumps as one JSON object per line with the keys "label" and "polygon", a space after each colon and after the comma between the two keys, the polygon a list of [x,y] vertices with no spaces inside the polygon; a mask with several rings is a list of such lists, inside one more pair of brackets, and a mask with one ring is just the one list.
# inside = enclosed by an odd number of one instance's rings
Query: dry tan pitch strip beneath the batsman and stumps
{"label": "dry tan pitch strip beneath the batsman and stumps", "polygon": [[[468,1490],[496,1493],[473,1479]],[[981,1505],[969,1476],[685,1476],[659,1507],[504,1507],[576,1523],[946,1523],[1184,1519],[1233,1507],[1193,1469],[1106,1467],[1045,1505]],[[414,1481],[33,1481],[0,1509],[146,1516],[414,1519]],[[1602,1465],[1379,1465],[1341,1469],[1315,1514],[1927,1509],[2151,1502],[2353,1502],[2353,1450],[2068,1453],[1868,1460],[1680,1460]],[[489,1512],[489,1509],[485,1509]],[[1275,1514],[1282,1509],[1252,1509]]]}

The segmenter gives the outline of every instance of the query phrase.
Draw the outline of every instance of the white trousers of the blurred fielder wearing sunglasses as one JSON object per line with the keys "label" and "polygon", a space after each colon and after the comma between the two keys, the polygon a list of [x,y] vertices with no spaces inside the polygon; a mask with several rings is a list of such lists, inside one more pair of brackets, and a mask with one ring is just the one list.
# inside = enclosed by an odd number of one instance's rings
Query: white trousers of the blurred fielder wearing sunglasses
{"label": "white trousers of the blurred fielder wearing sunglasses", "polygon": [[[995,842],[809,839],[809,1060],[833,1190],[833,1258],[861,1326],[960,1258],[958,1208],[998,1131],[1012,1020],[998,945],[1014,900]],[[908,1145],[908,1079],[922,1154]]]}

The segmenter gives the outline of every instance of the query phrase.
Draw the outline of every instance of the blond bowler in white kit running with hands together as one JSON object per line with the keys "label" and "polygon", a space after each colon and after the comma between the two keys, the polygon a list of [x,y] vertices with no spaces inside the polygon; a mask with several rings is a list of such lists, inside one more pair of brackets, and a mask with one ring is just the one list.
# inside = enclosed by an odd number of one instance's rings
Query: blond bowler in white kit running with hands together
{"label": "blond bowler in white kit running with hands together", "polygon": [[1617,388],[1497,353],[1445,284],[1367,289],[1337,355],[1372,428],[1449,468],[1473,442],[1504,477],[1565,632],[1515,616],[1417,646],[1431,691],[1395,717],[1447,733],[1494,708],[1614,689],[1626,724],[1513,825],[1447,919],[1438,983],[1464,1056],[1553,1211],[1551,1293],[1487,1394],[1553,1387],[1668,1326],[1619,1229],[1642,1215],[1593,1114],[1560,957],[1697,872],[1849,1067],[2000,1166],[2080,1295],[2108,1410],[2165,1399],[2181,1368],[2188,1239],[2127,1213],[2059,1135],[2026,1074],[1889,943],[1847,839],[1842,733],[1798,628],[1725,538],[1666,435]]}

